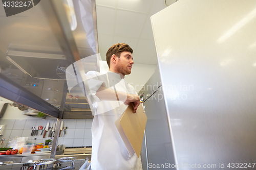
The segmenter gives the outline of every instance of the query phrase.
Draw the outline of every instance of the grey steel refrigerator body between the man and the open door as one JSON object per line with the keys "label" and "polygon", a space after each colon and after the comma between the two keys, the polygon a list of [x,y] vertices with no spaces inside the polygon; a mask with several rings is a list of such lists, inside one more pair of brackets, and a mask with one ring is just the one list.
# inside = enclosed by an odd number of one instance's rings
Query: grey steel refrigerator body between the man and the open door
{"label": "grey steel refrigerator body between the man and the open door", "polygon": [[[172,140],[166,119],[163,90],[159,74],[159,67],[155,69],[152,77],[146,82],[138,94],[145,106],[147,123],[142,142],[142,167],[147,169],[148,163],[175,164]],[[171,169],[171,168],[166,168]]]}

